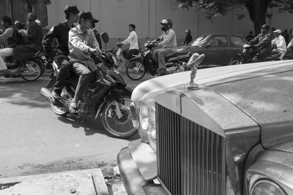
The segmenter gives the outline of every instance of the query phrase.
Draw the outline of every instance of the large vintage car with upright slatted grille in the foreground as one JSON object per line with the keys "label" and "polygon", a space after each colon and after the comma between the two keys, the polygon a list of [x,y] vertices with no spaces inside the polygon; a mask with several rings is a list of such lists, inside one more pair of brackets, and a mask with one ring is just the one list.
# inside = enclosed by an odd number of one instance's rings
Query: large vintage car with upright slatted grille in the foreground
{"label": "large vintage car with upright slatted grille in the foreground", "polygon": [[293,61],[154,78],[132,94],[140,139],[117,156],[128,194],[293,194]]}

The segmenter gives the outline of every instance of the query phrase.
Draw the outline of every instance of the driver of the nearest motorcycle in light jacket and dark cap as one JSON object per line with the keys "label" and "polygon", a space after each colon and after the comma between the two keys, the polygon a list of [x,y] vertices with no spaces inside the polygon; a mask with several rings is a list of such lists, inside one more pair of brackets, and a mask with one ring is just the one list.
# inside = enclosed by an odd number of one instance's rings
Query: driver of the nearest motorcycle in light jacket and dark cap
{"label": "driver of the nearest motorcycle in light jacket and dark cap", "polygon": [[82,11],[78,14],[79,25],[69,31],[69,61],[72,63],[74,72],[79,76],[74,99],[70,104],[69,111],[76,113],[78,101],[86,96],[87,85],[92,78],[92,72],[96,80],[101,77],[95,62],[90,58],[91,54],[101,55],[99,43],[95,33],[90,29],[91,21],[94,19],[89,11]]}

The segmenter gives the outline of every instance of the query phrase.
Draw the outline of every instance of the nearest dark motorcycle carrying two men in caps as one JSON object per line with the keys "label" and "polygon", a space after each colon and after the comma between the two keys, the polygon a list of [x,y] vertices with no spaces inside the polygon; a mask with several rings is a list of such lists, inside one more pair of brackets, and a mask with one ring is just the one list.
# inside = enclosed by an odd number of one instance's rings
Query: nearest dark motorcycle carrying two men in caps
{"label": "nearest dark motorcycle carrying two men in caps", "polygon": [[[108,38],[101,35],[106,43]],[[106,132],[117,138],[131,137],[137,133],[133,127],[130,104],[132,90],[114,67],[113,54],[102,51],[102,64],[97,65],[103,75],[102,79],[91,82],[87,88],[87,95],[79,101],[78,117],[90,116],[97,119],[102,116],[102,125]],[[69,106],[74,98],[78,77],[67,79],[62,89],[61,99],[52,96],[51,91],[56,83],[59,72],[58,65],[53,62],[54,75],[47,86],[41,89],[41,95],[50,103],[54,113],[60,116],[69,114]],[[50,90],[51,89],[51,90]]]}

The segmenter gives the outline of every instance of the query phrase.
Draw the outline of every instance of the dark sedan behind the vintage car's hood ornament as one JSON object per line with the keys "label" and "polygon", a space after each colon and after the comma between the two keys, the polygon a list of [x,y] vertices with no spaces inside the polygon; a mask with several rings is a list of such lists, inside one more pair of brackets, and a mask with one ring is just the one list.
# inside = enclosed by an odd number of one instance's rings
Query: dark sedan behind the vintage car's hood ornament
{"label": "dark sedan behind the vintage car's hood ornament", "polygon": [[243,51],[246,40],[240,34],[204,34],[188,45],[178,47],[177,51],[189,50],[191,54],[205,54],[201,65],[228,65],[235,53]]}

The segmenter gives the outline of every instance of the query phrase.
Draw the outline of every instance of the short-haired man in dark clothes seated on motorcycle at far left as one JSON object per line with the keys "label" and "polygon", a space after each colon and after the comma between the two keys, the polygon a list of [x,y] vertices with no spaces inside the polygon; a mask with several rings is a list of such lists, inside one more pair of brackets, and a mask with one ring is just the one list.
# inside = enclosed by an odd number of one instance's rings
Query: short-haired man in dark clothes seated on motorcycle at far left
{"label": "short-haired man in dark clothes seated on motorcycle at far left", "polygon": [[42,28],[41,26],[35,22],[36,14],[31,12],[27,16],[27,20],[29,21],[29,26],[27,30],[27,37],[29,39],[29,43],[25,45],[16,46],[13,49],[13,61],[14,63],[21,64],[21,71],[27,69],[24,64],[24,60],[26,58],[32,57],[37,51],[42,49]]}

